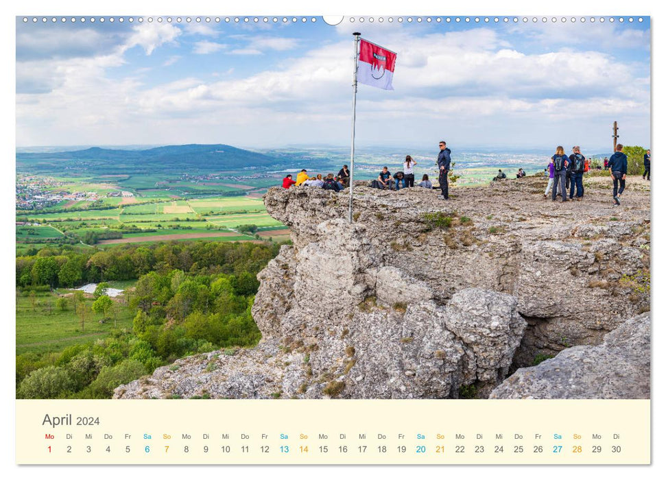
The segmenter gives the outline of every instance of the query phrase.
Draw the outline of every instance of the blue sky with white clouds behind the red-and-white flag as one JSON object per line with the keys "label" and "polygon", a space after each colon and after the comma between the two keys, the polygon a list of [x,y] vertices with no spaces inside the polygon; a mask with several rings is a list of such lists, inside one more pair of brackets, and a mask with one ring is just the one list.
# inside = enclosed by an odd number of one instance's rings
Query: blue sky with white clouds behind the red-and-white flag
{"label": "blue sky with white clouds behind the red-and-white flag", "polygon": [[16,145],[348,145],[353,36],[396,51],[359,85],[359,145],[650,143],[650,25],[16,19]]}

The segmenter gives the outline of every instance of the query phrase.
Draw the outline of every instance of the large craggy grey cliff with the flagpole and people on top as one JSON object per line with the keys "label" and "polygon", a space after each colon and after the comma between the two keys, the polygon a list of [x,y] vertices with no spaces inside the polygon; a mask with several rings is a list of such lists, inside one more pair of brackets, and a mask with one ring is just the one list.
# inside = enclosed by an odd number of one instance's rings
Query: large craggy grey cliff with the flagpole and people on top
{"label": "large craggy grey cliff with the flagpole and people on top", "polygon": [[270,189],[293,245],[259,274],[259,346],[180,359],[115,396],[487,397],[649,310],[649,190],[630,180],[614,207],[599,181],[564,204],[538,178],[449,202],[355,186],[353,224],[348,190]]}

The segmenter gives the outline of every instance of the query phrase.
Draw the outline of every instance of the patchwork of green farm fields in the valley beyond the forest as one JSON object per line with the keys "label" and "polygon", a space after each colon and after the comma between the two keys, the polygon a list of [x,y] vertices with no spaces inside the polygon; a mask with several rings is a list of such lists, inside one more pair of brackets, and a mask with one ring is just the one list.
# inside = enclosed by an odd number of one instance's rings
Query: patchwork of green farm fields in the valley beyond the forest
{"label": "patchwork of green farm fields in the valley beyond the forest", "polygon": [[[243,171],[236,174],[245,175]],[[284,228],[283,224],[270,217],[263,206],[261,198],[247,195],[224,196],[223,191],[236,191],[233,187],[226,187],[225,181],[211,181],[214,185],[205,185],[206,181],[191,182],[174,180],[173,177],[160,175],[97,175],[97,176],[62,176],[48,177],[51,184],[62,182],[62,185],[48,187],[57,192],[97,192],[100,202],[93,204],[88,201],[70,202],[62,201],[42,211],[20,211],[16,215],[17,221],[30,221],[39,224],[31,227],[16,229],[16,254],[25,254],[32,248],[46,245],[45,239],[53,238],[53,244],[58,244],[62,234],[67,235],[63,243],[84,245],[99,245],[106,248],[108,243],[104,240],[136,239],[136,243],[153,242],[150,237],[175,235],[174,240],[200,240],[210,241],[250,241],[254,235],[233,235],[230,237],[215,237],[215,233],[229,232],[241,225],[254,224],[260,230],[265,228]],[[276,183],[272,178],[258,178],[235,182],[243,187],[261,188]],[[47,183],[48,184],[48,183]],[[178,197],[174,192],[178,190]],[[187,197],[192,189],[198,195]],[[128,190],[134,191],[136,203],[121,204],[121,197],[106,197],[106,191]],[[217,195],[200,195],[204,191],[212,191]],[[248,191],[247,189],[245,191]],[[188,193],[189,192],[189,193]],[[222,194],[220,194],[222,193]],[[100,206],[114,206],[115,208],[99,208]],[[151,230],[151,231],[136,231]],[[204,233],[211,233],[211,237],[196,237]],[[30,235],[29,235],[30,234]],[[191,235],[195,234],[193,238]],[[143,240],[144,237],[149,239]],[[190,238],[188,238],[190,237]],[[267,241],[267,237],[263,237]],[[281,236],[278,240],[284,241]],[[31,241],[32,240],[32,241]],[[160,240],[155,240],[160,241]],[[102,243],[99,243],[102,242]],[[132,243],[135,243],[132,241]]]}

